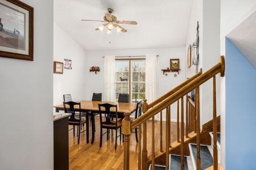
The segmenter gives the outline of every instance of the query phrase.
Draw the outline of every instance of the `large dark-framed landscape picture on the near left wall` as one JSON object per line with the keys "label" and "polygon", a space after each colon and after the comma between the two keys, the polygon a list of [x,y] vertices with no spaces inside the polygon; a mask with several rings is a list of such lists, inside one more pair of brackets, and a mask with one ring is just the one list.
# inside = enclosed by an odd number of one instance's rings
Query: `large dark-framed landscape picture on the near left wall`
{"label": "large dark-framed landscape picture on the near left wall", "polygon": [[34,8],[17,0],[0,0],[0,57],[33,61]]}

